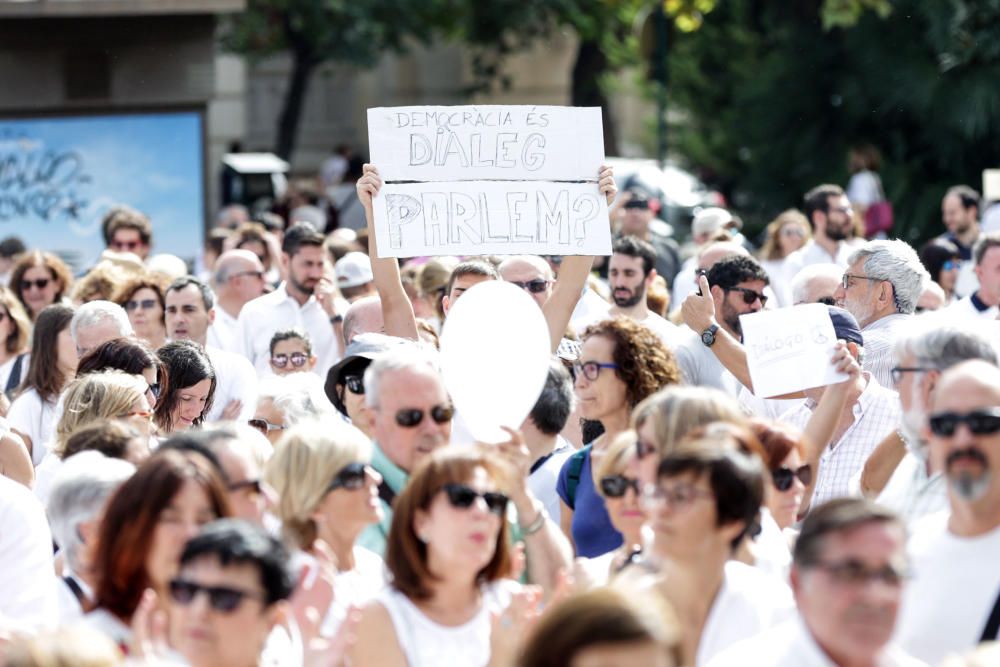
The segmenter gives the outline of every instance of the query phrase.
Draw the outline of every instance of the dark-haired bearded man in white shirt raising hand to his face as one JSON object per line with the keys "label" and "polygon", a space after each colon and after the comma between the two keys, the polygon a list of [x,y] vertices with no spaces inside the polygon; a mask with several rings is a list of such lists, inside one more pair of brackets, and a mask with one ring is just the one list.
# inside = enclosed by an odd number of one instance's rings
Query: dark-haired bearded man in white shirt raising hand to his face
{"label": "dark-haired bearded man in white shirt raising hand to his face", "polygon": [[334,323],[343,318],[336,312],[333,282],[324,275],[323,240],[309,223],[292,225],[281,242],[281,261],[288,279],[240,311],[238,351],[260,376],[271,375],[271,336],[279,329],[298,327],[309,334],[319,358],[313,372],[322,378],[340,358]]}

